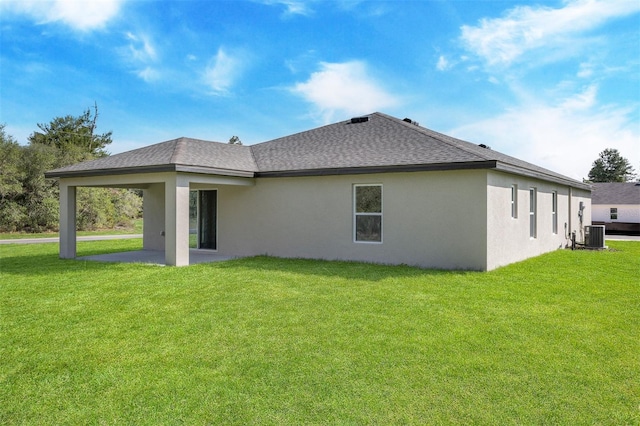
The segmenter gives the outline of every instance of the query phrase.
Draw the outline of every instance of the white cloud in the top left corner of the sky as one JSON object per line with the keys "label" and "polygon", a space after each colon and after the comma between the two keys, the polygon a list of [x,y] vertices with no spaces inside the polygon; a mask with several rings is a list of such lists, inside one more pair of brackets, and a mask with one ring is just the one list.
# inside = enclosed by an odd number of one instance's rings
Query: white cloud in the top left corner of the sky
{"label": "white cloud in the top left corner of the sky", "polygon": [[69,27],[90,31],[104,27],[117,16],[123,0],[3,0],[4,13],[27,15],[40,24],[61,22]]}

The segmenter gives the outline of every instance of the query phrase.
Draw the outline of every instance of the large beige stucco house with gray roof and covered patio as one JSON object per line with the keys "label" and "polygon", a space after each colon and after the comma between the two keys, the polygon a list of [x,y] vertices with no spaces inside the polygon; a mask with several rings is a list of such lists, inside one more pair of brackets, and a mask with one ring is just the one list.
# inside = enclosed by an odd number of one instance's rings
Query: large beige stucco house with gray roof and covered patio
{"label": "large beige stucco house with gray roof and covered patio", "polygon": [[142,189],[143,247],[179,266],[191,230],[225,256],[491,270],[590,224],[590,186],[382,113],[252,146],[179,138],[46,176],[62,258],[76,256],[82,186]]}

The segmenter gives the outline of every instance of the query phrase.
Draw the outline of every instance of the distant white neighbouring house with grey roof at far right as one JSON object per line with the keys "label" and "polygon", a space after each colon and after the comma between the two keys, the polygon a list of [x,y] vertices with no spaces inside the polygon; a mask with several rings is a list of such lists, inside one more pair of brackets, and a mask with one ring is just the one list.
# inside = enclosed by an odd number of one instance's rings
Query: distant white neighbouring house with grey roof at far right
{"label": "distant white neighbouring house with grey roof at far right", "polygon": [[640,234],[640,182],[594,183],[592,220],[607,233]]}

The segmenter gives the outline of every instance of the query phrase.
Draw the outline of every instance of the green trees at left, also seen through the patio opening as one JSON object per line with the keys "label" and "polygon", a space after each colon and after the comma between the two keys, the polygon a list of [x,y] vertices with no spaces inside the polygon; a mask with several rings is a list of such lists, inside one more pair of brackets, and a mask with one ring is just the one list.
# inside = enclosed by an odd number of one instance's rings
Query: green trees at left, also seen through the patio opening
{"label": "green trees at left, also seen through the patio opening", "polygon": [[[0,231],[56,231],[58,181],[47,170],[108,155],[112,132],[97,134],[98,107],[80,116],[56,117],[20,145],[0,124]],[[78,188],[78,230],[130,227],[140,217],[142,197],[115,188]]]}

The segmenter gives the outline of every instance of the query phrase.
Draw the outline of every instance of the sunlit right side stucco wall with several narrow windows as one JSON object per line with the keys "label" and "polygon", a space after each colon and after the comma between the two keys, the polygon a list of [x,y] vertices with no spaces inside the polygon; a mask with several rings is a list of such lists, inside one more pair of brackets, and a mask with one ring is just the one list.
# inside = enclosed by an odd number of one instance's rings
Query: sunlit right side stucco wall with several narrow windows
{"label": "sunlit right side stucco wall with several narrow windows", "polygon": [[[511,214],[511,186],[517,185],[517,217]],[[536,190],[536,235],[530,236],[530,189]],[[553,232],[553,191],[557,192],[557,232]],[[567,247],[590,221],[590,195],[565,185],[490,171],[487,175],[487,269]],[[583,220],[578,210],[584,205]]]}

